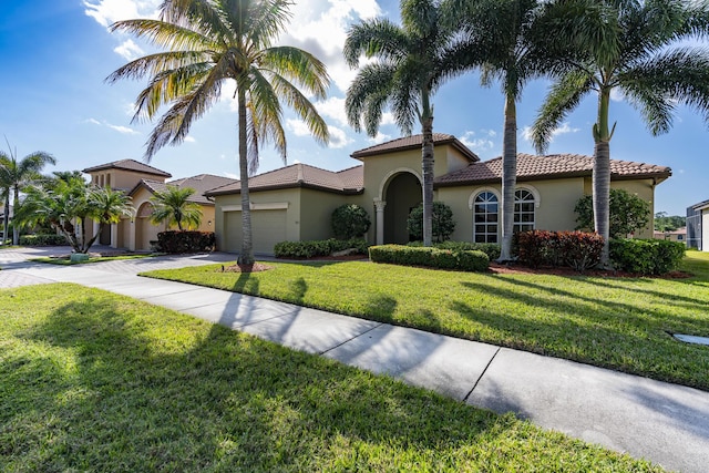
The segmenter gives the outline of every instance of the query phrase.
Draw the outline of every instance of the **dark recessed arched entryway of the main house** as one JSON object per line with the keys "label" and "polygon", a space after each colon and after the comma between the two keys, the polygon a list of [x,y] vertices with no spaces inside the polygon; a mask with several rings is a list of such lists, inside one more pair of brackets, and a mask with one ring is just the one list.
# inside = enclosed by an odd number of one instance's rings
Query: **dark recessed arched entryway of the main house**
{"label": "dark recessed arched entryway of the main house", "polygon": [[384,189],[384,243],[407,244],[409,213],[422,200],[421,182],[409,172],[393,175]]}

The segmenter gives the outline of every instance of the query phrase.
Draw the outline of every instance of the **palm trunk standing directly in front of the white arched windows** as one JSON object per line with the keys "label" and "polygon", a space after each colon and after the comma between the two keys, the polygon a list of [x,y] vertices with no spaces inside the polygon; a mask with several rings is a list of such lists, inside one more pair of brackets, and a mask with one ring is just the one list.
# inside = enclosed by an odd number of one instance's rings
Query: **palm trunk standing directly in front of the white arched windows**
{"label": "palm trunk standing directly in front of the white arched windows", "polygon": [[502,153],[502,247],[499,263],[512,259],[514,191],[517,183],[517,107],[513,94],[505,94],[505,128]]}

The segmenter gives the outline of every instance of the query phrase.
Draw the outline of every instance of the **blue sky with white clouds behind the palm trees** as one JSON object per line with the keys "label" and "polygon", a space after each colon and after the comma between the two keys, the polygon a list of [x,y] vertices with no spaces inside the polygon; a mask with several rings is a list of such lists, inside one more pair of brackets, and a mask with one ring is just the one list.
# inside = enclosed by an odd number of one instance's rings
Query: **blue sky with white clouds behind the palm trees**
{"label": "blue sky with white clouds behind the palm trees", "polygon": [[[302,133],[291,114],[288,164],[295,162],[338,171],[359,164],[356,150],[395,138],[400,132],[384,120],[371,140],[346,122],[345,91],[354,71],[341,58],[346,29],[360,18],[398,18],[392,0],[299,0],[282,41],[314,52],[326,62],[333,81],[329,96],[317,104],[332,141],[322,147]],[[124,158],[143,160],[151,123],[131,123],[133,101],[145,81],[106,84],[104,79],[150,48],[126,34],[110,33],[113,21],[154,16],[160,0],[33,0],[0,3],[0,134],[18,155],[52,153],[58,164],[48,171],[82,169]],[[534,153],[525,138],[547,83],[530,84],[518,104],[518,151]],[[167,146],[152,165],[173,177],[202,173],[238,177],[236,114],[230,95],[192,128],[181,146]],[[502,153],[503,97],[499,86],[483,89],[474,74],[445,84],[434,97],[434,131],[450,133],[482,160]],[[589,96],[558,130],[551,153],[593,154],[590,127],[596,102]],[[693,110],[680,107],[672,130],[653,137],[640,115],[623,100],[612,104],[618,122],[610,144],[615,160],[672,168],[672,177],[656,189],[656,212],[684,215],[687,206],[709,198],[707,150],[709,131]],[[386,117],[387,119],[387,117]],[[7,152],[4,140],[0,143]],[[271,150],[260,154],[259,173],[282,166]]]}

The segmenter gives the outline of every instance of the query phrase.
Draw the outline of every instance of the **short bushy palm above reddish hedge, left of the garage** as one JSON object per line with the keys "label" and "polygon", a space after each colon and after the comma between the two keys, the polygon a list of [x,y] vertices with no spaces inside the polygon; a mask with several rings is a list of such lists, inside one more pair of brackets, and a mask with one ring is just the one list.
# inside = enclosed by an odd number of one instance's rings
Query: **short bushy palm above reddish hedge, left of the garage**
{"label": "short bushy palm above reddish hedge, left of the garage", "polygon": [[202,222],[202,208],[199,204],[189,202],[189,197],[195,193],[191,187],[177,187],[168,185],[164,191],[156,191],[151,197],[153,224],[177,225],[182,232],[183,223],[189,227],[198,227]]}

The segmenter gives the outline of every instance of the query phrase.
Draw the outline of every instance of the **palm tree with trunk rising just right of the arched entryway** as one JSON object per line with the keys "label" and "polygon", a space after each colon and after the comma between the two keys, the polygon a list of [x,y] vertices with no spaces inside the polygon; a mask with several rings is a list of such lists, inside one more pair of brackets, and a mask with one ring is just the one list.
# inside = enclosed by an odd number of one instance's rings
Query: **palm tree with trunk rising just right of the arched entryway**
{"label": "palm tree with trunk rising just right of the arched entryway", "polygon": [[386,106],[405,135],[418,119],[423,134],[423,244],[431,246],[433,206],[433,94],[449,78],[465,69],[465,44],[445,28],[440,2],[402,0],[402,25],[387,19],[354,24],[345,42],[345,59],[359,66],[360,55],[376,58],[364,64],[347,91],[345,106],[350,125],[376,136]]}

